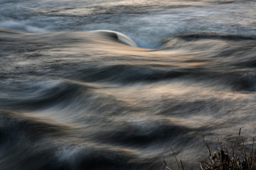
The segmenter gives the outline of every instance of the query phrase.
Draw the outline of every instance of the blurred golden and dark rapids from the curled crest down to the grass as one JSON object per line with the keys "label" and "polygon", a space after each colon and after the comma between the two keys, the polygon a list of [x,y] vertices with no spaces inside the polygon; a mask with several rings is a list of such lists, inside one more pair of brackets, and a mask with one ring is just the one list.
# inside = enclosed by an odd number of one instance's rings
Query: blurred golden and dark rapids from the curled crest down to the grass
{"label": "blurred golden and dark rapids from the curled crest down to the grass", "polygon": [[147,49],[109,30],[0,28],[0,44],[4,169],[157,169],[170,147],[193,169],[201,135],[254,134],[253,36],[181,33]]}

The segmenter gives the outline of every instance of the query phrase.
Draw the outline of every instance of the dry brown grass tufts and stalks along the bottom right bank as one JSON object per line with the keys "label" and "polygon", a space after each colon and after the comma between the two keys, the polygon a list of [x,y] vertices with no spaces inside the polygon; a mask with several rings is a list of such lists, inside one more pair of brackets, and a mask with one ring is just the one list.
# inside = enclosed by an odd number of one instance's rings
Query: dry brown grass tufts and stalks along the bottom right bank
{"label": "dry brown grass tufts and stalks along the bottom right bank", "polygon": [[[215,152],[210,151],[208,142],[203,138],[208,150],[208,159],[199,159],[201,170],[256,170],[256,149],[254,148],[255,139],[253,138],[251,149],[245,147],[245,142],[240,140],[240,132],[236,138],[235,144],[230,145],[219,145]],[[219,141],[219,140],[218,140]],[[172,149],[171,149],[172,150]],[[172,150],[173,154],[174,151]],[[184,170],[183,164],[176,158],[179,170]],[[163,159],[164,160],[164,159]],[[169,165],[164,161],[164,169],[171,169]]]}

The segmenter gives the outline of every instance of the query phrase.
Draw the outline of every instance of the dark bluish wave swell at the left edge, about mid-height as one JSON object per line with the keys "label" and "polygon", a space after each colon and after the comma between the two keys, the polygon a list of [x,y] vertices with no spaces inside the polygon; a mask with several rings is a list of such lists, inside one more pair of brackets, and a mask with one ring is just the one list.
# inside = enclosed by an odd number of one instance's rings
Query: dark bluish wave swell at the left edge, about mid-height
{"label": "dark bluish wave swell at the left edge, about mid-height", "polygon": [[[30,84],[27,82],[11,81],[18,84],[12,88],[5,88],[0,97],[0,106],[9,106],[11,108],[44,108],[50,106],[65,106],[79,98],[82,94],[92,92],[92,86],[86,84],[75,84],[63,80],[31,79]],[[9,83],[11,83],[9,82]],[[8,84],[1,84],[8,86]],[[4,95],[6,94],[6,95]],[[8,94],[8,95],[7,95]]]}

